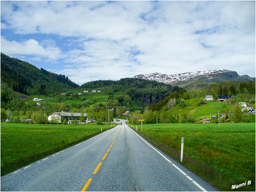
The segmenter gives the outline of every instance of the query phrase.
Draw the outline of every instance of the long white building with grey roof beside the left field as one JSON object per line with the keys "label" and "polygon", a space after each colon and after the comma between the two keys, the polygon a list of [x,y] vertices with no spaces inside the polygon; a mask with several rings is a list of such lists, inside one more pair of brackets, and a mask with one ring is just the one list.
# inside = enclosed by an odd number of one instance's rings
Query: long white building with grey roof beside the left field
{"label": "long white building with grey roof beside the left field", "polygon": [[66,119],[67,123],[71,124],[71,121],[76,120],[77,124],[87,123],[87,113],[84,113],[83,116],[85,117],[85,122],[80,121],[81,113],[70,113],[70,112],[53,112],[51,115],[48,116],[48,121],[52,119],[56,122],[61,123],[61,118]]}

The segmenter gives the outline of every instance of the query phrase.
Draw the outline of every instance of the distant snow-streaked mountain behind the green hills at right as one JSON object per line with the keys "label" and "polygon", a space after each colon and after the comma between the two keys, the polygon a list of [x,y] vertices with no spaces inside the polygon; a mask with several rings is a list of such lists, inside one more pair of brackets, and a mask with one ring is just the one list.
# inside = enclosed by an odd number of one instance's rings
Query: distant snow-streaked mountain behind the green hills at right
{"label": "distant snow-streaked mountain behind the green hills at right", "polygon": [[223,81],[248,81],[255,79],[248,75],[239,76],[236,71],[230,70],[206,70],[176,75],[150,73],[136,75],[133,78],[154,80],[173,86],[180,86],[186,90],[203,88],[206,85]]}

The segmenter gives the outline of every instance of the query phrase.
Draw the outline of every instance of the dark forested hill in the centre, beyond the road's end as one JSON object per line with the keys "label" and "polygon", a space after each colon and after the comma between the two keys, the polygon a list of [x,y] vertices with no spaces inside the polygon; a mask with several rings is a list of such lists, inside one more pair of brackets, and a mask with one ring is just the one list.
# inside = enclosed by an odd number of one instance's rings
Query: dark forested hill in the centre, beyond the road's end
{"label": "dark forested hill in the centre, beyond the road's end", "polygon": [[180,87],[145,79],[124,78],[118,81],[99,80],[84,83],[82,88],[108,89],[108,103],[114,106],[145,107],[155,104],[176,91],[186,92]]}

